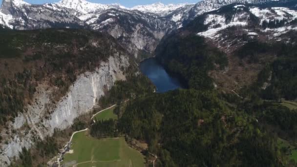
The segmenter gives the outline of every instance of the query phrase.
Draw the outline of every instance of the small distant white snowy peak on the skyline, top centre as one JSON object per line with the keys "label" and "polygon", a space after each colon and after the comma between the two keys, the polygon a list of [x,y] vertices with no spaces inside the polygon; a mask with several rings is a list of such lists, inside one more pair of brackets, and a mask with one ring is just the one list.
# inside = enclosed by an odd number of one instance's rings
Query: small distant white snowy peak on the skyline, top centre
{"label": "small distant white snowy peak on the skyline, top centre", "polygon": [[138,10],[144,13],[154,13],[154,14],[164,14],[171,12],[177,8],[183,7],[189,3],[179,3],[179,4],[168,4],[165,5],[161,2],[148,4],[148,5],[137,5],[131,8],[132,10]]}

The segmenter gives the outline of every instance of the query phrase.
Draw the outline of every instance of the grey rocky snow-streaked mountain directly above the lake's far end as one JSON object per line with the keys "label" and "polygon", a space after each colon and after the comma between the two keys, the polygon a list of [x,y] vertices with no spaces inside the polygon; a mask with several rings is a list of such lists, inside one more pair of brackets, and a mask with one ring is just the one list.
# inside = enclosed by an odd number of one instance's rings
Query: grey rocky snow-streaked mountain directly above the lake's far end
{"label": "grey rocky snow-streaked mountain directly above the lake's far end", "polygon": [[176,29],[173,21],[161,20],[138,11],[109,9],[86,21],[90,28],[109,33],[135,57],[139,51],[152,53],[164,35]]}

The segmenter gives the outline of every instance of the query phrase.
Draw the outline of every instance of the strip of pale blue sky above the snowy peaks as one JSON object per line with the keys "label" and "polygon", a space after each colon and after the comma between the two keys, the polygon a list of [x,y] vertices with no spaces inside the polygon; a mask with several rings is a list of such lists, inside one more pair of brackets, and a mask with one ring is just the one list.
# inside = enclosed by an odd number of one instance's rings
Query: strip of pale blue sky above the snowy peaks
{"label": "strip of pale blue sky above the snowy peaks", "polygon": [[[33,4],[42,4],[42,3],[51,3],[51,2],[57,2],[59,0],[24,0],[29,3]],[[96,2],[96,3],[120,3],[126,7],[133,7],[135,5],[139,4],[151,4],[155,2],[162,2],[164,4],[170,4],[170,3],[196,3],[199,0],[87,0],[90,2]],[[0,0],[0,3],[2,3],[2,0]]]}

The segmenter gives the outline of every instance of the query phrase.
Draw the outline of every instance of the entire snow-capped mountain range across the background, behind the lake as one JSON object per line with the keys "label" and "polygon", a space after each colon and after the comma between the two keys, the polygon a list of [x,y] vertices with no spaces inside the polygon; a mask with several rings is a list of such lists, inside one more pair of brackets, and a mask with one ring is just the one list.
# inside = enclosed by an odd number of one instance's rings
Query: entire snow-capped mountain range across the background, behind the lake
{"label": "entire snow-capped mountain range across the background, behind the lake", "polygon": [[203,0],[196,4],[154,3],[129,9],[119,4],[86,0],[61,0],[41,5],[22,0],[3,0],[0,25],[20,30],[64,27],[105,31],[137,57],[142,51],[152,53],[164,35],[205,12],[234,2],[265,4],[275,1],[278,0]]}

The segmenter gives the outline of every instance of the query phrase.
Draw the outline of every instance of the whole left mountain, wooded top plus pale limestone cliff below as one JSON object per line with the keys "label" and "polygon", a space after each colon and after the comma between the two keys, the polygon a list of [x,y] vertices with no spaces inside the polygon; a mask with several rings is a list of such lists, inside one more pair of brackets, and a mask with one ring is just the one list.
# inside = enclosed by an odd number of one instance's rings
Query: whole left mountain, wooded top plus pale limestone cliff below
{"label": "whole left mountain, wooded top plus pale limestone cliff below", "polygon": [[1,30],[0,166],[92,110],[134,58],[88,30]]}

